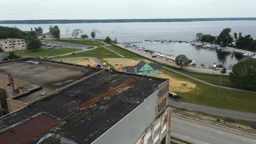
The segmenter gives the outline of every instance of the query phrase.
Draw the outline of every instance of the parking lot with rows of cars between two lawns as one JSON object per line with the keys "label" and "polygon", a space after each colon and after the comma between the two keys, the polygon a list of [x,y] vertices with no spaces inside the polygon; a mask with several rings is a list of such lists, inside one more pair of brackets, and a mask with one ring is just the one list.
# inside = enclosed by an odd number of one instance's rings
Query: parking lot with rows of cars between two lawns
{"label": "parking lot with rows of cars between two lawns", "polygon": [[71,49],[87,49],[88,47],[91,47],[90,45],[64,43],[59,41],[49,41],[44,44],[49,44],[49,46],[44,45],[44,49],[60,49],[63,47]]}

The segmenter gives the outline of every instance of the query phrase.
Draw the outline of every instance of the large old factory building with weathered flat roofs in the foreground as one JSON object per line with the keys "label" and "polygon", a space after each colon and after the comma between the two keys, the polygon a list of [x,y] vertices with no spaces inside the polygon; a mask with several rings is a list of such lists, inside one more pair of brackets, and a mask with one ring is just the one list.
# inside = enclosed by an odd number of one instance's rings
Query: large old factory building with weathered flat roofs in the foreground
{"label": "large old factory building with weathered flat roofs in the foreground", "polygon": [[170,143],[167,79],[36,58],[0,74],[0,143]]}

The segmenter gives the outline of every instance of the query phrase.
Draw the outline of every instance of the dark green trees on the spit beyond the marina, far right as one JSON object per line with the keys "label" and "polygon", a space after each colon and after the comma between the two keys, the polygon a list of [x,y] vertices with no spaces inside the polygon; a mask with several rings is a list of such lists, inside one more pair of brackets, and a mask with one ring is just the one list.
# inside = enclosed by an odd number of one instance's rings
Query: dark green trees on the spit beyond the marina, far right
{"label": "dark green trees on the spit beyond the marina, far right", "polygon": [[256,51],[256,40],[253,40],[251,35],[245,35],[245,37],[243,37],[242,33],[238,33],[238,35],[237,33],[234,33],[231,35],[231,28],[223,29],[217,36],[197,33],[196,40],[224,46],[229,45],[243,50]]}

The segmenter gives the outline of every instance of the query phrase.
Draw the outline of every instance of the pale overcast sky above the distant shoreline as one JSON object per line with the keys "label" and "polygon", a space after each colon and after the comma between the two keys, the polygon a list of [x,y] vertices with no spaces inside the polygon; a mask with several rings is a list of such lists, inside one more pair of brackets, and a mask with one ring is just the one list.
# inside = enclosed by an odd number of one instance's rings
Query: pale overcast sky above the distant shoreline
{"label": "pale overcast sky above the distant shoreline", "polygon": [[256,17],[256,0],[0,0],[0,20]]}

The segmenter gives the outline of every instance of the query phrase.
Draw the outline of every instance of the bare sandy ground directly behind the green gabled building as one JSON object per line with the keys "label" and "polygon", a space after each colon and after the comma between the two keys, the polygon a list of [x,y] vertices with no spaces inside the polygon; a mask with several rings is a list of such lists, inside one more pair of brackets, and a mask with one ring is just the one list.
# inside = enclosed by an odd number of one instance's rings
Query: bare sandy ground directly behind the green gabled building
{"label": "bare sandy ground directly behind the green gabled building", "polygon": [[[117,68],[118,70],[123,70],[124,67],[133,66],[138,64],[141,60],[135,60],[130,58],[104,58],[104,61]],[[147,60],[143,60],[146,63],[149,63]]]}

